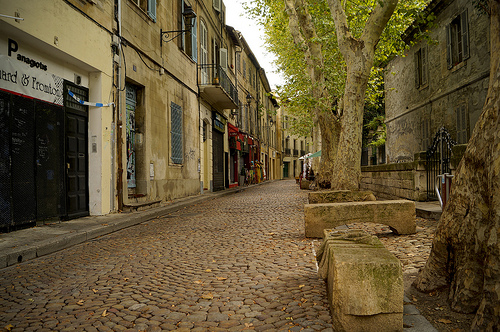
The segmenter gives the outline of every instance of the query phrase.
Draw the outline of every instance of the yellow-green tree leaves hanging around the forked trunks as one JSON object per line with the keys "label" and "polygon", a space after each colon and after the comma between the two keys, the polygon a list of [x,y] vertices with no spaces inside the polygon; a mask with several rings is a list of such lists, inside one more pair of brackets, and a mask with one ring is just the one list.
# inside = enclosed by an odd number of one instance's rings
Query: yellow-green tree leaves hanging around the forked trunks
{"label": "yellow-green tree leaves hanging around the forked trunks", "polygon": [[[374,66],[367,86],[366,107],[376,110],[375,116],[383,114],[383,67],[396,54],[403,54],[405,44],[402,33],[415,20],[418,13],[429,0],[401,0],[391,20],[384,29],[378,42]],[[359,38],[373,8],[378,0],[343,1],[349,29],[354,37]],[[339,51],[335,24],[327,1],[308,1],[308,11],[312,16],[318,42],[322,46],[324,75],[328,93],[323,100],[312,98],[311,78],[304,66],[304,50],[294,44],[288,17],[282,1],[248,0],[245,7],[249,15],[256,19],[266,33],[267,50],[276,55],[275,65],[283,74],[285,84],[278,87],[282,100],[288,100],[285,105],[288,114],[295,117],[309,117],[315,107],[325,112],[335,112],[337,102],[341,100],[346,82],[346,64]],[[373,113],[373,112],[372,112]],[[294,127],[298,133],[310,131],[312,121],[297,121],[300,127]]]}

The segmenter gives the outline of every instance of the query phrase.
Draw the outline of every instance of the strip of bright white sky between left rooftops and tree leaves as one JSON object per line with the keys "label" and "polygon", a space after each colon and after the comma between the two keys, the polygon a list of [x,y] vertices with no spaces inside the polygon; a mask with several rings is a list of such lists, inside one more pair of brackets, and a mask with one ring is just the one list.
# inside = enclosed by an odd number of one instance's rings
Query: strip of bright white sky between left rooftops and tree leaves
{"label": "strip of bright white sky between left rooftops and tree leaves", "polygon": [[252,20],[245,16],[242,0],[226,0],[226,24],[240,31],[246,42],[252,49],[253,54],[259,64],[266,71],[267,80],[271,89],[276,85],[283,85],[283,78],[275,73],[275,66],[272,64],[274,56],[264,48],[264,31]]}

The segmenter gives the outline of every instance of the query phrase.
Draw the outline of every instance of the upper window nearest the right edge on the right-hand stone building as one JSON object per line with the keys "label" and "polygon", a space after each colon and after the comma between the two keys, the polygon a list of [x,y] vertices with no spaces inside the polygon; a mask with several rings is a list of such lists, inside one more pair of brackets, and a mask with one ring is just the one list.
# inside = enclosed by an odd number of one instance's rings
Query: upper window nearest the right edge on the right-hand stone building
{"label": "upper window nearest the right edge on the right-hand stone building", "polygon": [[467,10],[446,26],[446,61],[448,69],[469,58]]}

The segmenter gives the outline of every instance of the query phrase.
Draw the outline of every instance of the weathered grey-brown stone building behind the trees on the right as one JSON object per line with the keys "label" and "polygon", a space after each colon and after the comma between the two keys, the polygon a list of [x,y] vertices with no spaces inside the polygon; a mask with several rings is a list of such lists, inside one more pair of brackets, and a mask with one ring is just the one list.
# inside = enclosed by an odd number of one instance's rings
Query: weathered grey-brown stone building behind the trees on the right
{"label": "weathered grey-brown stone building behind the trees on the right", "polygon": [[[471,1],[434,0],[432,25],[406,32],[405,57],[386,68],[387,162],[412,161],[445,127],[468,142],[481,113],[489,79],[489,19]],[[428,39],[415,39],[418,31]]]}

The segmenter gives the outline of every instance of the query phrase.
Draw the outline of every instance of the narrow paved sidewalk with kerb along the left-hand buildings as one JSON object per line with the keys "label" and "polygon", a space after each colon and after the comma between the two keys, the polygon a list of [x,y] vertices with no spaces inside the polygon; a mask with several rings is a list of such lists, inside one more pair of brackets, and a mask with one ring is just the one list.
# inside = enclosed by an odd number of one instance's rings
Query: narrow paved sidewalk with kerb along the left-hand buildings
{"label": "narrow paved sidewalk with kerb along the left-hand buildings", "polygon": [[208,199],[240,192],[252,186],[256,185],[180,198],[166,203],[165,206],[143,211],[88,216],[51,225],[3,233],[0,234],[0,269],[69,248]]}

